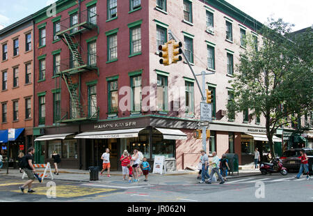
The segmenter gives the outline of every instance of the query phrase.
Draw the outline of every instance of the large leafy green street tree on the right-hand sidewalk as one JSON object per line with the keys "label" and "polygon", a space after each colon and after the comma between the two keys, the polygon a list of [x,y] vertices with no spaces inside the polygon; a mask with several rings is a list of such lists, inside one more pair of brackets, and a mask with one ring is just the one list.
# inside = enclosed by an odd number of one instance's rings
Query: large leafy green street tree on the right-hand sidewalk
{"label": "large leafy green street tree on the right-hand sidewalk", "polygon": [[259,30],[262,45],[256,49],[253,36],[236,65],[234,98],[228,111],[249,109],[266,119],[266,136],[273,148],[275,130],[313,110],[312,29],[291,33],[293,25],[271,19]]}

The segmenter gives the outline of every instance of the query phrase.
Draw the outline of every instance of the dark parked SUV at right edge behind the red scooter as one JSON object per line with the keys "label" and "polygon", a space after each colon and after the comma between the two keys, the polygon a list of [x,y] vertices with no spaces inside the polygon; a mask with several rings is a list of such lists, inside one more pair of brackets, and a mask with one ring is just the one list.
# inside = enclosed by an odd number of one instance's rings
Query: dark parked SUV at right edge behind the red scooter
{"label": "dark parked SUV at right edge behind the red scooter", "polygon": [[[301,148],[294,148],[285,151],[280,159],[282,165],[287,168],[288,171],[299,171],[300,169],[300,150]],[[309,171],[313,171],[313,148],[303,148],[307,157],[309,158]]]}

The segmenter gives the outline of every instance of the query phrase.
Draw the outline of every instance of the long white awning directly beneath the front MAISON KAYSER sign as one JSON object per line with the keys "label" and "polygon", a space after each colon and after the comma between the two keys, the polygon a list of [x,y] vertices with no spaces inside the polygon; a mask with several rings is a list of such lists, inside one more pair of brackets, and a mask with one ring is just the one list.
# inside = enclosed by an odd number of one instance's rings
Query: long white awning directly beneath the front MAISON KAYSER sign
{"label": "long white awning directly beneath the front MAISON KAYSER sign", "polygon": [[105,130],[96,132],[83,132],[77,134],[75,139],[118,139],[138,137],[138,133],[145,128],[133,128],[125,130]]}

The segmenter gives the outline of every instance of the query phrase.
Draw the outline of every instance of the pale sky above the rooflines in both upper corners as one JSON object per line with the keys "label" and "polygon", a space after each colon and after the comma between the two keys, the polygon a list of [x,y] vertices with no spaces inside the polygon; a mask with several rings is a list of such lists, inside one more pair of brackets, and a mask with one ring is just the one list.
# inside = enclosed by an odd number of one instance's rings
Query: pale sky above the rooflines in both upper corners
{"label": "pale sky above the rooflines in both upper corners", "polygon": [[[22,20],[22,18],[35,13],[55,1],[56,0],[0,0],[0,29]],[[264,24],[267,22],[267,18],[271,16],[276,20],[282,18],[284,22],[295,24],[296,26],[293,28],[294,31],[307,28],[313,24],[313,13],[310,11],[313,8],[312,0],[226,1]]]}

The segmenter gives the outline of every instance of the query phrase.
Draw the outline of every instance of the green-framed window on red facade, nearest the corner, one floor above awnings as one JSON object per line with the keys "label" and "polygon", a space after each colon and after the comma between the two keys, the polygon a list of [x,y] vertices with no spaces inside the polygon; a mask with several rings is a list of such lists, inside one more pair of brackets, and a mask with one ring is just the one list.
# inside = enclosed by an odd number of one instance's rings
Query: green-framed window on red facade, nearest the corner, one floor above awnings
{"label": "green-framed window on red facade, nearest the corner, one floor above awnings", "polygon": [[141,111],[141,76],[131,77],[131,111]]}

